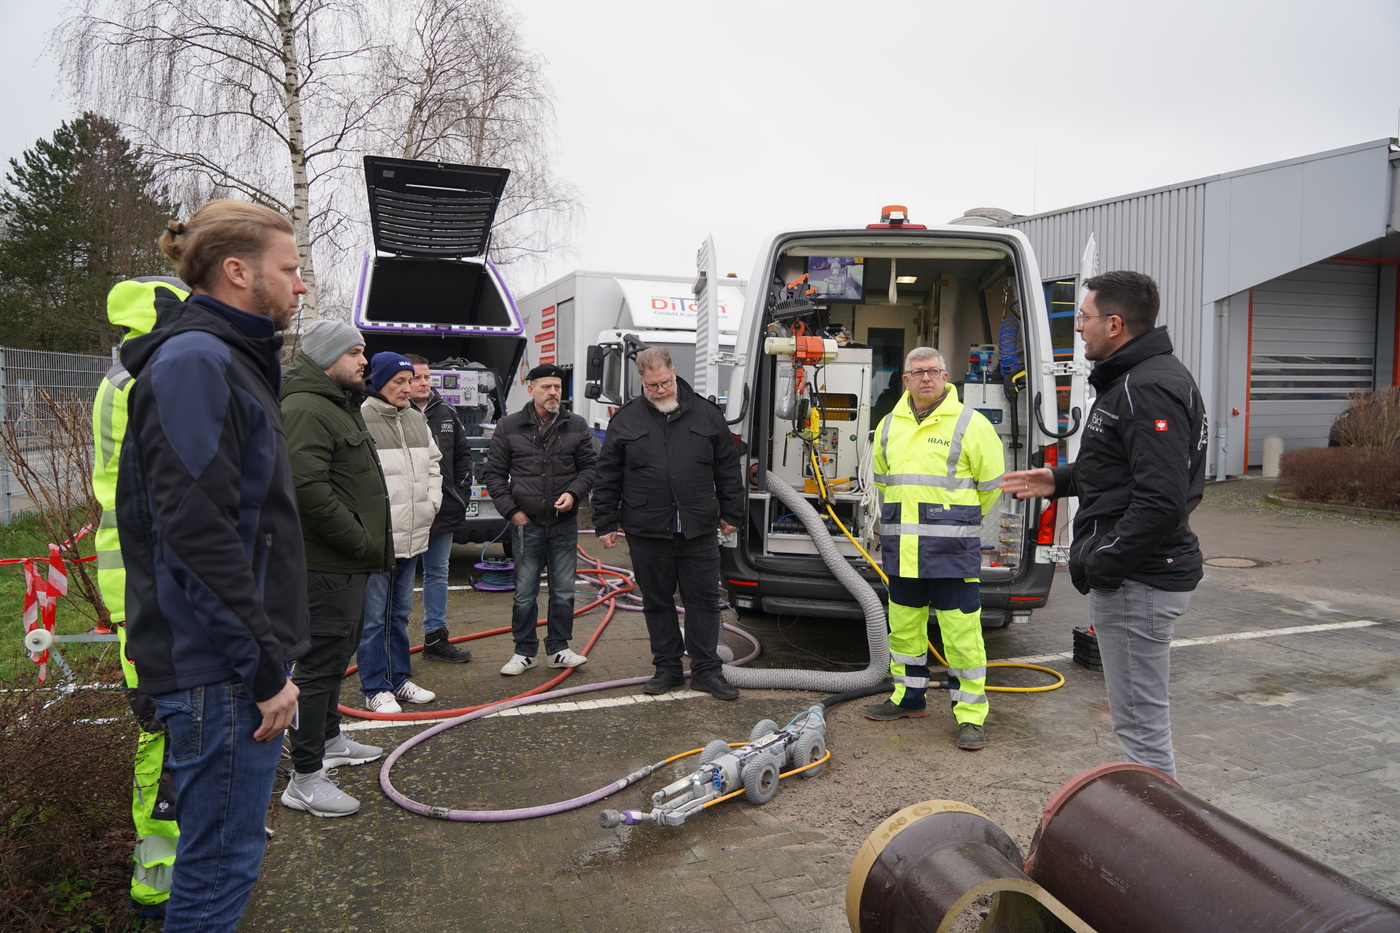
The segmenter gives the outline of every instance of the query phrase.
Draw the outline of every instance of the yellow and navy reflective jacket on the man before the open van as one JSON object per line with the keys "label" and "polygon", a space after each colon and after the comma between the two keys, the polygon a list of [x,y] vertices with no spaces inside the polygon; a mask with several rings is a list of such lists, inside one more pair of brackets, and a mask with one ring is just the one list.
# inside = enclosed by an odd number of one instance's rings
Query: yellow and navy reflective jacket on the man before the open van
{"label": "yellow and navy reflective jacket on the man before the open van", "polygon": [[1005,471],[1001,438],[958,389],[923,422],[906,392],[876,429],[881,565],[896,577],[969,579],[981,573],[981,517]]}

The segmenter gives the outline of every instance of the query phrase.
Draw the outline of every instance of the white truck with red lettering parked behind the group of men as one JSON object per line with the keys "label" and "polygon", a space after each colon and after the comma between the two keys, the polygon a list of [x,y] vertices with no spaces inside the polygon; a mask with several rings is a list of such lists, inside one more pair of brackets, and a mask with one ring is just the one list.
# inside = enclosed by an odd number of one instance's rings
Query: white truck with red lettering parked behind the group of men
{"label": "white truck with red lettering parked behind the group of men", "polygon": [[[627,399],[641,394],[627,363],[637,346],[671,350],[676,371],[692,384],[696,367],[694,277],[571,272],[519,300],[529,342],[511,382],[508,408],[525,403],[525,374],[540,363],[564,370],[564,403],[588,422],[599,440]],[[743,280],[718,279],[718,343],[732,354],[743,308]],[[592,371],[589,371],[589,363]],[[587,396],[584,382],[598,385]],[[721,367],[720,385],[728,382]]]}

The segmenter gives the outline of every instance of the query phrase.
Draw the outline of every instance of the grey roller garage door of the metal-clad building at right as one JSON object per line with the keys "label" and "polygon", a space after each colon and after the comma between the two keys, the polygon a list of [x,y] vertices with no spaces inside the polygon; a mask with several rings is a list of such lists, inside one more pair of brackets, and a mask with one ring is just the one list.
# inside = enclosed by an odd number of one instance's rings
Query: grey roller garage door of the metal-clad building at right
{"label": "grey roller garage door of the metal-clad building at right", "polygon": [[1375,387],[1376,268],[1319,262],[1254,289],[1249,462],[1264,438],[1284,450],[1326,447],[1347,395]]}

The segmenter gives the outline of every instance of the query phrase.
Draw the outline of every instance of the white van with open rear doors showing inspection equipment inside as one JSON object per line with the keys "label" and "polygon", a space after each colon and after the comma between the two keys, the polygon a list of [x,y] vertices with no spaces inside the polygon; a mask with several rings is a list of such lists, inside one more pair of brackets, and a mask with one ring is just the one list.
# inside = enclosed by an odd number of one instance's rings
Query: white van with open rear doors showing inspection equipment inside
{"label": "white van with open rear doors showing inspection equipment inside", "polygon": [[[727,402],[748,516],[720,552],[741,611],[862,615],[769,476],[816,507],[840,556],[878,588],[861,552],[879,560],[872,434],[911,349],[942,352],[959,396],[1001,436],[1008,471],[1057,462],[1060,440],[1079,427],[1078,408],[1060,424],[1056,377],[1081,382],[1084,373],[1054,360],[1040,273],[1019,231],[925,228],[890,206],[864,228],[774,235],[749,282]],[[1056,503],[1040,500],[1002,497],[986,517],[984,626],[1044,605],[1064,558],[1057,524]]]}

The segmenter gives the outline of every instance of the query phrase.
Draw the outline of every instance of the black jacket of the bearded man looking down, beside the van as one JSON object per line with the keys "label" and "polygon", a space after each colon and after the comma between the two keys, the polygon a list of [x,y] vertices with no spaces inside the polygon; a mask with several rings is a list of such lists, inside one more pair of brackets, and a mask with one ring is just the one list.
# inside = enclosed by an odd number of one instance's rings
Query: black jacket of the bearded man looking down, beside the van
{"label": "black jacket of the bearded man looking down, beside the van", "polygon": [[680,408],[662,415],[644,398],[623,405],[608,423],[598,455],[594,525],[643,538],[713,535],[724,517],[743,521],[743,483],[734,434],[720,408],[676,377]]}

